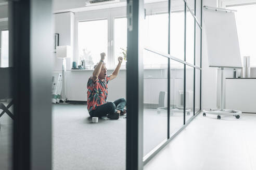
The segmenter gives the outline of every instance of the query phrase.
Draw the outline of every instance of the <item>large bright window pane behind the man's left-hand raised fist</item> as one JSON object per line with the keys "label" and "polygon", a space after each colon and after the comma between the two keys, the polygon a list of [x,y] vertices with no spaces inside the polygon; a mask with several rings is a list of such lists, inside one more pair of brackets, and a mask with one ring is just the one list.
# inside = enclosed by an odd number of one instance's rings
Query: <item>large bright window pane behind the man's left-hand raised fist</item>
{"label": "large bright window pane behind the man's left-hand raised fist", "polygon": [[83,21],[78,23],[79,62],[85,61],[85,68],[92,68],[105,52],[108,61],[108,21]]}

